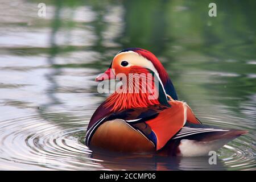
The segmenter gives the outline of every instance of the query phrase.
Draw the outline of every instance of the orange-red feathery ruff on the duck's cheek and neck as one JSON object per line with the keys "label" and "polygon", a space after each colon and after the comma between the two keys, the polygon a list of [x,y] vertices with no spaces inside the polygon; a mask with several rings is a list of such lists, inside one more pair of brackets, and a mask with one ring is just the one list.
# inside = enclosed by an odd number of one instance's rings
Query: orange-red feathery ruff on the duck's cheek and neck
{"label": "orange-red feathery ruff on the duck's cheek and neck", "polygon": [[105,106],[112,107],[112,111],[163,104],[161,102],[164,100],[168,105],[166,94],[152,73],[135,73],[122,78],[121,82],[122,85],[105,102]]}

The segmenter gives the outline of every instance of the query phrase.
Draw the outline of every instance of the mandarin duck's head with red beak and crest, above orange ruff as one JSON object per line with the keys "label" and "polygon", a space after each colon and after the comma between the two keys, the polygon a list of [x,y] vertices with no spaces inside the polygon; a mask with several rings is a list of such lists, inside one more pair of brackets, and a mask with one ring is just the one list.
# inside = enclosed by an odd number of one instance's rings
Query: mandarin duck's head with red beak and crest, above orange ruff
{"label": "mandarin duck's head with red beak and crest, above orange ruff", "polygon": [[96,77],[96,81],[115,79],[120,73],[128,76],[129,73],[146,73],[147,71],[157,75],[163,92],[177,100],[174,85],[162,63],[153,53],[142,48],[127,48],[118,52],[110,67],[104,74]]}

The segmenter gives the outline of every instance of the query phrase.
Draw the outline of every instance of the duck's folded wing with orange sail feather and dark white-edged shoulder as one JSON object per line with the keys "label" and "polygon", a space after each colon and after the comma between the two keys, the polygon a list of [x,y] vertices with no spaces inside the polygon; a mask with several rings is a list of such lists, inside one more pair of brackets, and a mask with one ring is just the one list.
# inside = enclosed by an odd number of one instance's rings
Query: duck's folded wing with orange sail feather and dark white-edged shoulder
{"label": "duck's folded wing with orange sail feather and dark white-edged shoulder", "polygon": [[153,105],[146,108],[127,109],[99,119],[86,133],[86,143],[97,128],[107,121],[122,119],[139,133],[142,133],[160,150],[186,123],[187,104],[170,101],[171,107]]}

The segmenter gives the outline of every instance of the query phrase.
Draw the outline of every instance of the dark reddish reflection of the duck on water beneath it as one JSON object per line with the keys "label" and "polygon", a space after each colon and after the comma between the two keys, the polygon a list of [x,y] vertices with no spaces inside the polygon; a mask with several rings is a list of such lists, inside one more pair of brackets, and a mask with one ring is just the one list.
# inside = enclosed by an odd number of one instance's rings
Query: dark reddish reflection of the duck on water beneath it
{"label": "dark reddish reflection of the duck on water beneath it", "polygon": [[91,157],[97,159],[97,163],[100,163],[104,169],[112,170],[225,170],[224,163],[218,157],[216,164],[210,165],[209,156],[183,158],[180,156],[151,154],[130,155],[120,152],[94,150]]}

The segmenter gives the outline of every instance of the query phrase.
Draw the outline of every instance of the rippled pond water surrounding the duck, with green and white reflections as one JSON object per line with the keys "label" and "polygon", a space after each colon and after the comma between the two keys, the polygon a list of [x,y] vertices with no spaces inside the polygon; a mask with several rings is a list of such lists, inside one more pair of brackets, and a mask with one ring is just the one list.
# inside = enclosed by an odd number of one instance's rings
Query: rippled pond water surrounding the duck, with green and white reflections
{"label": "rippled pond water surrounding the duck, with green and white reflections", "polygon": [[[255,170],[255,2],[7,1],[0,6],[0,169]],[[238,5],[239,4],[239,5]],[[249,131],[208,158],[90,151],[89,119],[106,94],[94,78],[115,53],[163,62],[203,123]]]}

